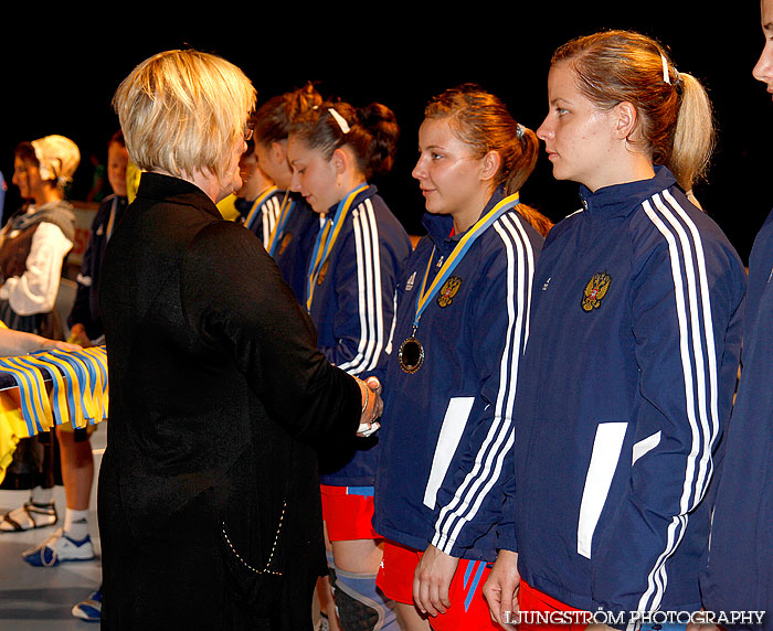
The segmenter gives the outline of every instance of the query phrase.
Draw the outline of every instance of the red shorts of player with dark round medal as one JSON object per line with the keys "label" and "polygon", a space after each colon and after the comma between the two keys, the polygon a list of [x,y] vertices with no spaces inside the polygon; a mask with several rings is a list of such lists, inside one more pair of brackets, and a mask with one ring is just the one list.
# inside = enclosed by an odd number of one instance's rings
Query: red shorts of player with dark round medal
{"label": "red shorts of player with dark round medal", "polygon": [[[413,605],[413,574],[422,558],[422,552],[384,541],[384,554],[375,585],[386,598]],[[483,560],[459,559],[456,573],[448,587],[451,607],[445,613],[430,618],[430,624],[437,631],[501,631],[491,621],[488,603],[483,596],[490,564]]]}

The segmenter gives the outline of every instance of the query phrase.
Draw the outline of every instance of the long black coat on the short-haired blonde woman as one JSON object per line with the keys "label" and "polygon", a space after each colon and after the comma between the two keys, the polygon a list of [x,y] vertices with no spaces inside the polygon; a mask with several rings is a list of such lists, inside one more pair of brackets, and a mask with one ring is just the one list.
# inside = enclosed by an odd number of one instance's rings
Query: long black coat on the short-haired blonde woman
{"label": "long black coat on the short-haired blonde woman", "polygon": [[102,275],[103,627],[310,629],[310,443],[356,431],[357,383],[255,235],[188,182],[142,175]]}

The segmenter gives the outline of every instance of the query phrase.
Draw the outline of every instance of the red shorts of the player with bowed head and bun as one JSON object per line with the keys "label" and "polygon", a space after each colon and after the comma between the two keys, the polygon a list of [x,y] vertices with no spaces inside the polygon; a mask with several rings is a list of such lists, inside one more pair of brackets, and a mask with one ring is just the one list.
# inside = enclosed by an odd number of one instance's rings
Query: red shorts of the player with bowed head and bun
{"label": "red shorts of the player with bowed head and bun", "polygon": [[373,530],[373,486],[320,484],[322,520],[331,542],[379,539]]}

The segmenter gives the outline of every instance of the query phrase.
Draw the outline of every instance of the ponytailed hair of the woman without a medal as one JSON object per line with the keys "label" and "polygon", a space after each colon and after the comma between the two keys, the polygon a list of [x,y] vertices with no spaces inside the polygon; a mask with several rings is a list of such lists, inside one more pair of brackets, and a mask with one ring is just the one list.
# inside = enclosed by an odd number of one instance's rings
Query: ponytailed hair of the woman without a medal
{"label": "ponytailed hair of the woman without a medal", "polygon": [[711,101],[700,82],[674,67],[655,40],[632,31],[576,38],[553,54],[568,62],[576,85],[602,109],[631,103],[638,114],[629,138],[644,146],[654,164],[668,167],[686,191],[705,175],[714,146]]}

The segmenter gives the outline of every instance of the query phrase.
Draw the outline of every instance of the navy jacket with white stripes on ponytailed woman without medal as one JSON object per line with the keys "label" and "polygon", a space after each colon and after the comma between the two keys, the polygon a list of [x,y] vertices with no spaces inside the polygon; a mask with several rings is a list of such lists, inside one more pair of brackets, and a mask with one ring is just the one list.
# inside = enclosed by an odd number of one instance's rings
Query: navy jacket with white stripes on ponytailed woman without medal
{"label": "navy jacket with white stripes on ponytailed woman without medal", "polygon": [[[738,370],[745,274],[655,178],[581,186],[534,274],[499,547],[576,609],[700,608],[712,452]],[[513,494],[515,491],[515,494]],[[511,526],[511,527],[510,527]]]}

